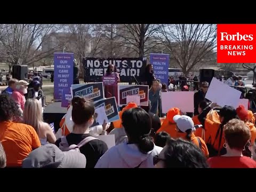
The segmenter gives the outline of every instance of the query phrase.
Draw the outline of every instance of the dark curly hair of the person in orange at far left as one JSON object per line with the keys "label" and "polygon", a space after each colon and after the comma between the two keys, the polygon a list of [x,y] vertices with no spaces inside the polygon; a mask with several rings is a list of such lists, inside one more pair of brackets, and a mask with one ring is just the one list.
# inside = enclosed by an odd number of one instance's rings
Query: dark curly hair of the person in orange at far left
{"label": "dark curly hair of the person in orange at far left", "polygon": [[6,94],[0,94],[0,122],[20,117],[21,113],[15,101]]}

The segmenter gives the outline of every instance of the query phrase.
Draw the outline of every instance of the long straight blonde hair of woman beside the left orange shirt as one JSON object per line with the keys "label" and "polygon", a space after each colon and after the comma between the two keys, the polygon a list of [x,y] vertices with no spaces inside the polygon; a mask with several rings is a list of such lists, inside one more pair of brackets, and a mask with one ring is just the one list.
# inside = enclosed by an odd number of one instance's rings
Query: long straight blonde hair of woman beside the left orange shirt
{"label": "long straight blonde hair of woman beside the left orange shirt", "polygon": [[34,127],[39,134],[40,125],[43,123],[41,103],[37,99],[27,99],[23,111],[23,123]]}

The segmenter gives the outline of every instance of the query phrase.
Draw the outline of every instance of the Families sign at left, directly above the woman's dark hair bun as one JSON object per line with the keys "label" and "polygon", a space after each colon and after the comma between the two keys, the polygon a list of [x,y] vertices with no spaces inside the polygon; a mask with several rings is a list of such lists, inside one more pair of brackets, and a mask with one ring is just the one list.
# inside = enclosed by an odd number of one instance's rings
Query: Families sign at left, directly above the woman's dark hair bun
{"label": "Families sign at left, directly above the woman's dark hair bun", "polygon": [[80,96],[94,102],[105,98],[102,82],[71,85],[71,89],[72,98],[75,96]]}

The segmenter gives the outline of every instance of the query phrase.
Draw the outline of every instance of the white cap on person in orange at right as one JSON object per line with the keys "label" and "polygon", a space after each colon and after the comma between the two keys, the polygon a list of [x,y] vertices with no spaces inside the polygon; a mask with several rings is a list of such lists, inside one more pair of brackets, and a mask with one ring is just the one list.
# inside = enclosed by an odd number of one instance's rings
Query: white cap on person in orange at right
{"label": "white cap on person in orange at right", "polygon": [[189,129],[195,130],[194,122],[189,116],[175,115],[173,117],[173,121],[177,123],[179,130],[183,133],[185,133]]}

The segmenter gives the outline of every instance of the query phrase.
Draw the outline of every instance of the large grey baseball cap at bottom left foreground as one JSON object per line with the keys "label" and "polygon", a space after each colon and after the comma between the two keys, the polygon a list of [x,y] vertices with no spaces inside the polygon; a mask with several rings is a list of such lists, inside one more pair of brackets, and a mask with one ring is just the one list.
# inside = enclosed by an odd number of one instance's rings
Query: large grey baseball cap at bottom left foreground
{"label": "large grey baseball cap at bottom left foreground", "polygon": [[85,168],[86,157],[79,151],[61,151],[54,144],[46,144],[22,161],[22,168]]}

